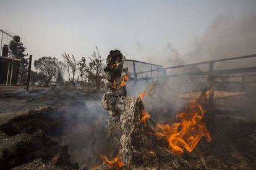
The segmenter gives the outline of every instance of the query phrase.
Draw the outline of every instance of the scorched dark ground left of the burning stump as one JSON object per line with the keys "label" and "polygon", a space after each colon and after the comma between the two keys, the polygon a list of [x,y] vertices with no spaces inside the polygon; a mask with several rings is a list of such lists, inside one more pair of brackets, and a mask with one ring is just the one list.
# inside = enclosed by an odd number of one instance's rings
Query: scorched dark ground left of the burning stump
{"label": "scorched dark ground left of the burning stump", "polygon": [[79,169],[106,152],[103,92],[0,87],[0,169]]}

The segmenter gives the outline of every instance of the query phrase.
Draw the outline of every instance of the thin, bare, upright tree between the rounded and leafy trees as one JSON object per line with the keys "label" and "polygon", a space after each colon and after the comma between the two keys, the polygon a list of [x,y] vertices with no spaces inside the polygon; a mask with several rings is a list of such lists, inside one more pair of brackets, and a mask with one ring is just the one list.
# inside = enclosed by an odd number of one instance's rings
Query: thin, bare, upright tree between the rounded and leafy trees
{"label": "thin, bare, upright tree between the rounded and leafy trees", "polygon": [[71,54],[72,57],[70,57],[69,54],[62,54],[62,57],[64,59],[64,62],[67,66],[67,74],[69,75],[69,81],[75,86],[75,73],[77,71],[77,60],[75,60],[75,57],[73,54]]}

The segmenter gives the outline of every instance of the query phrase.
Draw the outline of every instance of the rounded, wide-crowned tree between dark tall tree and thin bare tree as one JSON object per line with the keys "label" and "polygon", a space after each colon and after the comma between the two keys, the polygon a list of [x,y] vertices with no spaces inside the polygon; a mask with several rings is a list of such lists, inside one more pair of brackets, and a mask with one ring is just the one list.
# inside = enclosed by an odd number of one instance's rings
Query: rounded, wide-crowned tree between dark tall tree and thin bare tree
{"label": "rounded, wide-crowned tree between dark tall tree and thin bare tree", "polygon": [[55,57],[41,57],[35,60],[34,66],[36,70],[39,70],[45,76],[46,84],[48,85],[53,78],[56,80],[63,78],[63,72],[61,71],[60,65],[64,63],[59,62]]}

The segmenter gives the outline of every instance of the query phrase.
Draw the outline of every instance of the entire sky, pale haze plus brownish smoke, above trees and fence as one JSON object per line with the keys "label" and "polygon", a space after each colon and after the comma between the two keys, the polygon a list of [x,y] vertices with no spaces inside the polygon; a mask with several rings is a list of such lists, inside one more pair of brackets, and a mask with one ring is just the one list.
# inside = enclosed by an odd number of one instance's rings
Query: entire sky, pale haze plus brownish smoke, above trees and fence
{"label": "entire sky, pale haze plus brownish smoke, above trees and fence", "polygon": [[119,49],[127,59],[168,66],[177,57],[189,63],[256,53],[255,4],[0,0],[0,28],[19,35],[34,60],[62,60],[64,52],[79,60],[96,45],[105,59]]}

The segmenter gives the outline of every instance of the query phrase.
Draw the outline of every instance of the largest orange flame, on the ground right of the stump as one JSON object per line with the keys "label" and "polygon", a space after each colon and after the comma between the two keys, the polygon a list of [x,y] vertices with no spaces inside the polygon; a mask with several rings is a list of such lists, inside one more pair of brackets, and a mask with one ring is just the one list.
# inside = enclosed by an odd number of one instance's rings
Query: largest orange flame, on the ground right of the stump
{"label": "largest orange flame, on the ground right of the stump", "polygon": [[202,121],[205,113],[198,100],[190,100],[187,110],[177,113],[176,118],[179,123],[156,124],[155,135],[167,140],[169,149],[175,155],[181,155],[184,148],[192,152],[203,136],[208,142],[211,140],[209,131]]}

